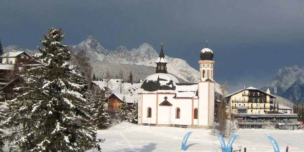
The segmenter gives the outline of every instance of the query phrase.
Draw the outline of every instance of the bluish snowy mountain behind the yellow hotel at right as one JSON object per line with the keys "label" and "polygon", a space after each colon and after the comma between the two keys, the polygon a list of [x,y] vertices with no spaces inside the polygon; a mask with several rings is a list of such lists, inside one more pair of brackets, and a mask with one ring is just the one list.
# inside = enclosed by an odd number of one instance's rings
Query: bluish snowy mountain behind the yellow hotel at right
{"label": "bluish snowy mountain behind the yellow hotel at right", "polygon": [[280,69],[272,81],[261,89],[269,88],[271,93],[274,93],[275,87],[277,87],[277,95],[293,103],[296,100],[304,102],[304,67],[294,65]]}

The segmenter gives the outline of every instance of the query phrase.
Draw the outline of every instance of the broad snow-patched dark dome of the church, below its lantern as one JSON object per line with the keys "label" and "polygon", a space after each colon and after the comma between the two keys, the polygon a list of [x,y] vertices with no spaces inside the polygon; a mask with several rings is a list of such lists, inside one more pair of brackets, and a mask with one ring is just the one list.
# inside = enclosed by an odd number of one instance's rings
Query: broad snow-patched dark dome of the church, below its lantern
{"label": "broad snow-patched dark dome of the church, below its lantern", "polygon": [[156,73],[149,75],[141,85],[144,91],[155,92],[159,90],[175,90],[178,80],[171,74]]}

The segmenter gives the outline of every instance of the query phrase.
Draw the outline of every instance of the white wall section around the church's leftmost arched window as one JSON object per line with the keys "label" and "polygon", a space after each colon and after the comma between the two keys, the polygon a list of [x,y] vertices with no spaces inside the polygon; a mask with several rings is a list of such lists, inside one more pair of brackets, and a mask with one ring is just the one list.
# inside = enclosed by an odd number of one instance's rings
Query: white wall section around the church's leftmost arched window
{"label": "white wall section around the church's leftmost arched window", "polygon": [[[148,118],[148,108],[151,108],[151,118]],[[156,94],[142,96],[142,123],[156,124]]]}

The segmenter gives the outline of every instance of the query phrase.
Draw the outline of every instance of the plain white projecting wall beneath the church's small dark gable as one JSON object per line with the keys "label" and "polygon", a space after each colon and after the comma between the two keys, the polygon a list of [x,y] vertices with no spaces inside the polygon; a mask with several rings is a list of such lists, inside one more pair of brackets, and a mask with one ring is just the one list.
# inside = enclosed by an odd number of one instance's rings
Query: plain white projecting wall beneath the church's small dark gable
{"label": "plain white projecting wall beneath the church's small dark gable", "polygon": [[171,106],[158,106],[157,124],[171,124]]}

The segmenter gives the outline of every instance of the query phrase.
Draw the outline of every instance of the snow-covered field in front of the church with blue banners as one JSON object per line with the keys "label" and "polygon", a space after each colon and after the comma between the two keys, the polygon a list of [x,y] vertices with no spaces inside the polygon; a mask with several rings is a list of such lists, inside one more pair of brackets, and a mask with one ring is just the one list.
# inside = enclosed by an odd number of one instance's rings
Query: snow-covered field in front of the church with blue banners
{"label": "snow-covered field in front of the church with blue banners", "polygon": [[[177,152],[181,150],[181,141],[189,131],[193,133],[187,141],[188,152],[212,152],[212,130],[189,129],[176,127],[138,126],[131,123],[119,123],[109,130],[98,130],[98,138],[105,138],[101,143],[102,152]],[[234,152],[238,146],[247,148],[247,152],[273,152],[271,142],[266,136],[272,136],[285,152],[289,146],[290,152],[303,152],[304,131],[302,130],[262,130],[239,129],[234,140]],[[227,144],[229,138],[225,138]],[[93,152],[93,150],[91,150]],[[96,151],[96,150],[95,150]],[[220,143],[214,136],[214,151],[221,152]]]}

